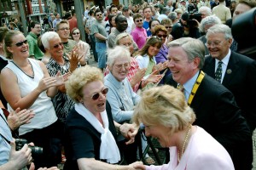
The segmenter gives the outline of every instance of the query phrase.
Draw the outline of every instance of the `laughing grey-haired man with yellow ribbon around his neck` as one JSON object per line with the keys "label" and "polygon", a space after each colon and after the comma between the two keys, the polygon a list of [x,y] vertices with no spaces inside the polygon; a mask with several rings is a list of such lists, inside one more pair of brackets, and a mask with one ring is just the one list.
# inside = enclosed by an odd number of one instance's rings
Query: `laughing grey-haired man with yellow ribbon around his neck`
{"label": "laughing grey-haired man with yellow ribbon around his neck", "polygon": [[[195,124],[203,127],[213,138],[233,152],[251,138],[247,122],[241,116],[233,94],[201,71],[205,47],[200,40],[180,38],[168,44],[169,64],[173,86],[183,86],[185,98],[194,109]],[[239,164],[239,161],[233,162]]]}

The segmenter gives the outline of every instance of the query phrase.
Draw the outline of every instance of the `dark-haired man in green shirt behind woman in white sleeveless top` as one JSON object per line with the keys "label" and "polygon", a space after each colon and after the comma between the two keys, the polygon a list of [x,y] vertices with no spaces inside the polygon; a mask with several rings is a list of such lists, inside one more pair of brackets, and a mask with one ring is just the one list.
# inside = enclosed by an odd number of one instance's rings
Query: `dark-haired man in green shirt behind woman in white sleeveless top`
{"label": "dark-haired man in green shirt behind woman in white sleeveless top", "polygon": [[31,31],[26,36],[26,40],[29,46],[29,55],[32,59],[42,59],[44,53],[38,48],[38,36],[41,33],[41,25],[39,22],[32,21]]}

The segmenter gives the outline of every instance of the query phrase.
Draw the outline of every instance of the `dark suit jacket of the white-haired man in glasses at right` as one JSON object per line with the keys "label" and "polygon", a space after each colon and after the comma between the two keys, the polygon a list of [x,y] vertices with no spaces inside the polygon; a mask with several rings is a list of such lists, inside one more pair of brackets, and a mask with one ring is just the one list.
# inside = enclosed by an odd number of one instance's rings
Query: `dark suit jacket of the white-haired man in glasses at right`
{"label": "dark suit jacket of the white-haired man in glasses at right", "polygon": [[[203,71],[215,78],[215,59],[205,59]],[[256,61],[245,55],[231,52],[222,84],[234,94],[241,115],[247,120],[251,131],[256,127]]]}

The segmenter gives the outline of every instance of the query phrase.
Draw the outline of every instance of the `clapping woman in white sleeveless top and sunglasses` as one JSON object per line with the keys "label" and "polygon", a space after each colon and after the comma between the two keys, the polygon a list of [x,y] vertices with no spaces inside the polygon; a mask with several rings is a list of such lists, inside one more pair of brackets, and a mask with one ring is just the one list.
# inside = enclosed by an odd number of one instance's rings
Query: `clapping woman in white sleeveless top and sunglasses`
{"label": "clapping woman in white sleeveless top and sunglasses", "polygon": [[29,47],[22,32],[9,31],[4,42],[6,57],[12,59],[1,72],[1,89],[8,109],[29,109],[35,113],[30,122],[20,126],[20,138],[44,148],[43,155],[33,156],[36,166],[57,165],[61,154],[52,152],[51,147],[60,149],[57,142],[53,143],[53,139],[60,138],[60,129],[51,98],[57,87],[64,84],[64,78],[60,73],[49,77],[43,62],[28,58]]}

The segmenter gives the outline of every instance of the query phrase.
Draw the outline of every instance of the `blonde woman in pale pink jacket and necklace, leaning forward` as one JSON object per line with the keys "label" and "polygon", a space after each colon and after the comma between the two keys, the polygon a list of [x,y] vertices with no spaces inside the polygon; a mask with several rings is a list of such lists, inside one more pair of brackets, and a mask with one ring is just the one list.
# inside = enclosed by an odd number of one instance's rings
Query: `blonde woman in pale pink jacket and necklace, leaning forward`
{"label": "blonde woman in pale pink jacket and necklace, leaning forward", "polygon": [[192,125],[195,113],[176,88],[165,85],[144,91],[133,119],[137,124],[143,122],[147,136],[169,147],[171,157],[168,164],[135,166],[139,169],[235,169],[227,150],[203,128]]}

